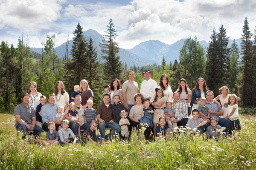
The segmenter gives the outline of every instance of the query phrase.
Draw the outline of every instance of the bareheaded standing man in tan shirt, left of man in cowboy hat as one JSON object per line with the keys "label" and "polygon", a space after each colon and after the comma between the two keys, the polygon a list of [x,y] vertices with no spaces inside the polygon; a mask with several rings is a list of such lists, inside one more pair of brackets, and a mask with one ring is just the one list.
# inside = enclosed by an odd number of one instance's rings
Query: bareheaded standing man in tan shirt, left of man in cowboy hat
{"label": "bareheaded standing man in tan shirt, left of man in cowboy hat", "polygon": [[134,71],[128,71],[128,77],[129,79],[122,85],[122,97],[125,108],[130,113],[131,107],[135,105],[134,96],[138,93],[138,83],[134,81]]}

